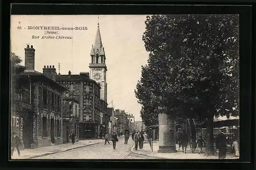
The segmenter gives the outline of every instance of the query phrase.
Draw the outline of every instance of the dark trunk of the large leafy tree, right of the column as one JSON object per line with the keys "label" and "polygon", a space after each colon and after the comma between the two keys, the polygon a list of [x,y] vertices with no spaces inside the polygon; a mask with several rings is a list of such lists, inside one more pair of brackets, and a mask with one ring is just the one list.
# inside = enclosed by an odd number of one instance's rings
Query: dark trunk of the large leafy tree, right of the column
{"label": "dark trunk of the large leafy tree, right of the column", "polygon": [[207,135],[206,135],[206,148],[205,155],[214,155],[214,117],[206,118]]}

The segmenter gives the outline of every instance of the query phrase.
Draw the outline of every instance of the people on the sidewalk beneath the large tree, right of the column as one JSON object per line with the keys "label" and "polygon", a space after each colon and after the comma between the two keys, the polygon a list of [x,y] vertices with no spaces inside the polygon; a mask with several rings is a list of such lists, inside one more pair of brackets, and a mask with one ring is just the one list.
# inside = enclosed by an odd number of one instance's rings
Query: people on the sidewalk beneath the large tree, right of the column
{"label": "people on the sidewalk beneath the large tree, right of the column", "polygon": [[[226,158],[227,138],[228,137],[226,137],[225,131],[226,131],[226,128],[221,128],[220,133],[216,137],[216,148],[217,148],[217,153],[219,155],[219,159],[225,159]],[[176,132],[176,139],[178,141],[179,150],[180,150],[180,147],[182,147],[182,152],[184,152],[186,154],[187,145],[189,143],[188,135],[185,133],[184,130],[178,129],[178,131]],[[190,148],[192,150],[192,153],[195,153],[195,150],[198,146],[199,154],[201,154],[201,153],[203,153],[202,148],[206,146],[206,143],[203,140],[202,136],[199,136],[197,141],[193,140],[189,143],[189,145],[190,145]],[[233,146],[233,149],[234,149],[234,152],[235,152],[234,156],[239,157],[238,139],[233,141],[232,146]]]}

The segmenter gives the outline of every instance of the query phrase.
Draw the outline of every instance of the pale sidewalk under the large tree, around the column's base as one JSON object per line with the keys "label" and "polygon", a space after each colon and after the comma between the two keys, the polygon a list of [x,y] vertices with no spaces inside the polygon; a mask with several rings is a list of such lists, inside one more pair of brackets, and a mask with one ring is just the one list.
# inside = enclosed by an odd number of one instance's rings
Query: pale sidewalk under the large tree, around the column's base
{"label": "pale sidewalk under the large tree, around the column's base", "polygon": [[[218,159],[218,155],[215,156],[204,156],[204,154],[199,154],[199,149],[197,148],[195,154],[191,152],[191,149],[188,147],[186,154],[182,152],[182,148],[178,151],[179,146],[176,144],[176,153],[158,153],[158,141],[154,141],[153,143],[153,152],[150,147],[150,144],[144,143],[143,149],[134,150],[134,147],[131,149],[131,152],[138,155],[144,155],[148,157],[160,158],[160,159]],[[203,151],[204,152],[204,151]],[[227,154],[226,159],[239,159],[238,157],[233,157],[234,154]]]}

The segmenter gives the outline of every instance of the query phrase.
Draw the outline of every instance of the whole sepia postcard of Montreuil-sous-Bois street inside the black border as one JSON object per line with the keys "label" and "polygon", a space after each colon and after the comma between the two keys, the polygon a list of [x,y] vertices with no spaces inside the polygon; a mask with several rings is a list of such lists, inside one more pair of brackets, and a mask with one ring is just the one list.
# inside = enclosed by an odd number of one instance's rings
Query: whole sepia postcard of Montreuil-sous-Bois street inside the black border
{"label": "whole sepia postcard of Montreuil-sous-Bois street inside the black border", "polygon": [[11,15],[12,159],[238,159],[239,15]]}

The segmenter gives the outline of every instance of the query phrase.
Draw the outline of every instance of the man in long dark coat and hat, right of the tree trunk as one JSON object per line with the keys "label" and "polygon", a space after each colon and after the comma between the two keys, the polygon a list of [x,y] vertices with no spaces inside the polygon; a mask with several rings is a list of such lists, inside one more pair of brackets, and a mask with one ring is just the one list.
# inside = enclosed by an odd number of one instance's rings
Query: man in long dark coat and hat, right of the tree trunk
{"label": "man in long dark coat and hat, right of the tree trunk", "polygon": [[216,148],[217,148],[217,152],[219,152],[219,159],[226,158],[227,141],[226,141],[225,131],[226,131],[226,128],[221,128],[220,134],[216,138]]}

